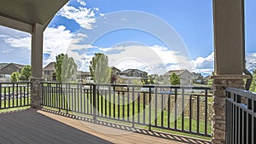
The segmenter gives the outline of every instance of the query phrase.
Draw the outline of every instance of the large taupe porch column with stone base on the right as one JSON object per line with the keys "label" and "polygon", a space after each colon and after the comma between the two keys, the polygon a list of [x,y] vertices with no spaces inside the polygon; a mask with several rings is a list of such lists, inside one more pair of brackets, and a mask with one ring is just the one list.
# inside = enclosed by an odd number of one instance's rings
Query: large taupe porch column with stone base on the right
{"label": "large taupe porch column with stone base on the right", "polygon": [[225,86],[242,89],[243,0],[213,0],[215,64],[212,95],[212,143],[225,142]]}

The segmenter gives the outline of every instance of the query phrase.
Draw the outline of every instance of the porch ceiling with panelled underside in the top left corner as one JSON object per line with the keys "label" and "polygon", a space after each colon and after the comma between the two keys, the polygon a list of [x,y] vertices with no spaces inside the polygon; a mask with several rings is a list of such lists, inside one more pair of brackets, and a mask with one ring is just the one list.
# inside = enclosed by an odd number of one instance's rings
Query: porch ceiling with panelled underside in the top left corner
{"label": "porch ceiling with panelled underside in the top left corner", "polygon": [[0,25],[32,33],[35,23],[46,28],[68,0],[1,0]]}

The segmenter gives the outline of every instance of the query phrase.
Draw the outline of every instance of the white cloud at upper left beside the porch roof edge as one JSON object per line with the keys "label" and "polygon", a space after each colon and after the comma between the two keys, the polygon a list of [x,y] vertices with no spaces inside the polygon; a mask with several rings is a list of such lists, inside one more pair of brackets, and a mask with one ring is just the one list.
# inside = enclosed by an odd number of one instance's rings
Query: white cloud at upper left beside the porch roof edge
{"label": "white cloud at upper left beside the porch roof edge", "polygon": [[[85,6],[86,3],[83,1],[78,1],[82,6]],[[69,20],[75,20],[79,26],[85,29],[93,29],[93,25],[96,23],[96,14],[94,9],[87,9],[85,7],[75,8],[67,3],[58,13]]]}

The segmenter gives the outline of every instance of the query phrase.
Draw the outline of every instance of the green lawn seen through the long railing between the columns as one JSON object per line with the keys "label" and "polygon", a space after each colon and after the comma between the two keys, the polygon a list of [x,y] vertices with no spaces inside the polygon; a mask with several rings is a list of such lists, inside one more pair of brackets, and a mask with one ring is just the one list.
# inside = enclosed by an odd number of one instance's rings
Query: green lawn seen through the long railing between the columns
{"label": "green lawn seen through the long railing between the columns", "polygon": [[[132,122],[132,120],[134,119],[134,121],[137,122],[138,124],[149,124],[149,118],[148,118],[149,105],[145,105],[145,107],[143,107],[143,102],[142,101],[138,102],[138,99],[132,102],[131,96],[129,99],[129,106],[128,106],[128,98],[125,96],[119,95],[119,99],[118,99],[118,95],[115,95],[115,101],[113,101],[113,94],[110,97],[111,97],[111,100],[110,100],[111,102],[109,102],[109,95],[107,95],[106,97],[99,95],[99,97],[97,98],[99,102],[99,104],[96,103],[96,106],[99,106],[97,107],[98,116],[102,116],[103,118],[110,118],[110,121],[124,119],[126,122],[128,120]],[[66,96],[61,96],[60,94],[51,94],[46,98],[51,99],[51,101],[48,101],[49,106],[55,106],[55,108],[62,107],[62,109],[64,109],[62,110],[62,112],[66,112],[65,109],[68,108],[70,110],[68,112],[73,113],[74,115],[84,116],[83,113],[87,113],[87,114],[92,113],[92,109],[91,109],[92,98],[90,97],[90,95],[82,95],[82,96],[75,95],[75,91],[74,91],[73,93],[66,93]],[[65,102],[63,102],[61,105],[59,104],[59,101],[65,101]],[[44,100],[44,102],[46,102],[46,99]],[[55,109],[55,110],[58,110],[58,109]],[[175,127],[174,112],[171,111],[168,115],[167,110],[164,109],[162,111],[160,107],[155,108],[154,104],[152,104],[150,112],[151,112],[151,120],[150,120],[151,125],[161,126],[161,121],[162,121],[161,119],[163,118],[163,126],[167,128],[169,124],[169,127],[174,129]],[[133,114],[134,114],[134,117],[132,117]],[[101,119],[101,117],[97,117],[97,118]],[[157,120],[155,120],[155,118]],[[170,119],[169,122],[168,122],[168,119]],[[182,118],[181,115],[177,115],[177,119],[176,119],[177,130],[182,130],[182,119],[183,119],[183,130],[189,131],[189,118],[187,117]],[[119,123],[125,123],[125,122],[119,121]],[[145,126],[142,126],[142,127],[145,127]],[[162,130],[157,128],[154,128],[154,129],[170,132],[170,130]],[[196,130],[197,130],[197,122],[195,119],[192,118],[191,131],[196,131]],[[200,121],[199,123],[199,132],[205,133],[205,124],[203,121]],[[212,132],[211,124],[207,124],[207,134],[211,134],[211,132]],[[175,132],[175,133],[178,133],[178,132]],[[181,134],[181,133],[178,133],[178,134]],[[189,135],[189,134],[186,134],[186,135]],[[199,135],[197,135],[197,137],[204,138],[207,140],[210,139],[208,137],[199,136]]]}

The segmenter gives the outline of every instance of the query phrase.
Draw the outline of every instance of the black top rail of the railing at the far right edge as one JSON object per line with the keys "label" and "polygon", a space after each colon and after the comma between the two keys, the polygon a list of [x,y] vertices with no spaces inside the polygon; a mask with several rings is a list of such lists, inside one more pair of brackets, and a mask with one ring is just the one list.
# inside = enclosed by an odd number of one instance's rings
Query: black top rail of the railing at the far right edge
{"label": "black top rail of the railing at the far right edge", "polygon": [[244,89],[230,88],[230,87],[226,87],[225,89],[226,89],[226,91],[228,91],[230,93],[234,93],[236,95],[241,95],[243,97],[247,97],[249,99],[256,101],[256,93],[253,93],[251,91],[247,91]]}

